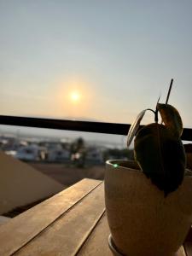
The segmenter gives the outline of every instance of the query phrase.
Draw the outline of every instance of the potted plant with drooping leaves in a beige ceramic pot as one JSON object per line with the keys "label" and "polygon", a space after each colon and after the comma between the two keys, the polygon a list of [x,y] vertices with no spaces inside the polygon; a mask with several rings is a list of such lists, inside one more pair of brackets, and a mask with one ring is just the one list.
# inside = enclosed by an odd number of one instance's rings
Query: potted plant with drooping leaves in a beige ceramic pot
{"label": "potted plant with drooping leaves in a beige ceramic pot", "polygon": [[138,130],[146,109],[131,125],[127,142],[136,135],[135,161],[107,161],[105,202],[115,255],[172,256],[189,232],[192,176],[185,168],[182,119],[167,103],[171,88],[166,104],[149,109],[154,123]]}

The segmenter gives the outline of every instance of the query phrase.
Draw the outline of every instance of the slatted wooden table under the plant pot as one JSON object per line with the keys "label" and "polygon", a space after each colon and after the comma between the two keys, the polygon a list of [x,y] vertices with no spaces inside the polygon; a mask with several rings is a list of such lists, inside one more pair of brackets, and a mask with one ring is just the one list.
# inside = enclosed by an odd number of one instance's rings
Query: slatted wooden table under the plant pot
{"label": "slatted wooden table under the plant pot", "polygon": [[[0,255],[112,256],[103,183],[83,179],[0,227]],[[177,256],[192,255],[191,240]]]}

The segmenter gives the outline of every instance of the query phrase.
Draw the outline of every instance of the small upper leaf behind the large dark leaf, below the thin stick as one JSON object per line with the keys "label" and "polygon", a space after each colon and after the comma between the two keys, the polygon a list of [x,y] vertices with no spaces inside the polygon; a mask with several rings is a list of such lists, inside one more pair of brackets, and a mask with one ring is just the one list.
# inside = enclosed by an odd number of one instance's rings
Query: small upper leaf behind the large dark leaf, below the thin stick
{"label": "small upper leaf behind the large dark leaf, below the thin stick", "polygon": [[179,138],[183,132],[183,122],[177,109],[169,104],[157,104],[162,121],[166,127],[172,132],[172,136]]}

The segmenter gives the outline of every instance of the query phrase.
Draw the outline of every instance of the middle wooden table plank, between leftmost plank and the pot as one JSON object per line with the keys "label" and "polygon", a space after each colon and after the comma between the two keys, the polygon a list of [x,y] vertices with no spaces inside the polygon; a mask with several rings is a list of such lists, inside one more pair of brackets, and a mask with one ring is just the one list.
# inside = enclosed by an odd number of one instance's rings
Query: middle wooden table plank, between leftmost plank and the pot
{"label": "middle wooden table plank, between leftmost plank and the pot", "polygon": [[75,255],[104,211],[101,184],[15,255]]}

